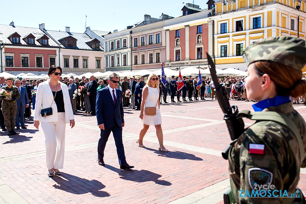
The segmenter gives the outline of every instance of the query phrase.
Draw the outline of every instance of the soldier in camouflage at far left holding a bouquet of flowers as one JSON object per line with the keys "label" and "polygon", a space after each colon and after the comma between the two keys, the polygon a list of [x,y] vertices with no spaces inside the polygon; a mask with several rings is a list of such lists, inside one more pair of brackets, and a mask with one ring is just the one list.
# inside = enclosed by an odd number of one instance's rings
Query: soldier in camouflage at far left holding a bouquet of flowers
{"label": "soldier in camouflage at far left holding a bouquet of flowers", "polygon": [[8,131],[8,135],[16,135],[15,132],[15,116],[17,114],[16,100],[20,98],[20,93],[17,87],[12,86],[13,78],[6,79],[6,86],[1,89],[5,89],[7,92],[13,91],[11,100],[2,100],[2,113],[4,116],[5,127]]}

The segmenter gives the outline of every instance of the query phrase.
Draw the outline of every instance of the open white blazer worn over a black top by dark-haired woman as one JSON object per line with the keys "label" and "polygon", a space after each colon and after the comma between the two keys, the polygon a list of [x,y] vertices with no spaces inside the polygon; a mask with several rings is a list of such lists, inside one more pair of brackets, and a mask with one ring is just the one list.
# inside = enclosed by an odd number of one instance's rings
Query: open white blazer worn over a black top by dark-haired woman
{"label": "open white blazer worn over a black top by dark-haired woman", "polygon": [[[40,121],[40,122],[58,121],[58,112],[57,112],[58,110],[55,101],[51,105],[54,96],[49,86],[49,81],[50,80],[40,83],[37,88],[34,121]],[[60,82],[60,85],[62,87],[63,97],[64,97],[66,123],[69,123],[70,120],[74,120],[74,115],[68,93],[68,87],[65,83],[62,82]],[[47,117],[42,117],[40,114],[40,110],[44,108],[49,108],[50,106],[52,108],[52,115]]]}

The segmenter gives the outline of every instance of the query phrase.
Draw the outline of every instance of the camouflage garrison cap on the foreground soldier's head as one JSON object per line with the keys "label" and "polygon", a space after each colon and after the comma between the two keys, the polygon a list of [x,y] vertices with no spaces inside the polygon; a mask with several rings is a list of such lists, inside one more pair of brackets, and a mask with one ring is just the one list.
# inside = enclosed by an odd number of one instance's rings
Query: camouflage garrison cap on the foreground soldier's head
{"label": "camouflage garrison cap on the foreground soldier's head", "polygon": [[242,56],[247,65],[267,60],[302,70],[306,64],[306,41],[295,37],[269,37],[248,46]]}

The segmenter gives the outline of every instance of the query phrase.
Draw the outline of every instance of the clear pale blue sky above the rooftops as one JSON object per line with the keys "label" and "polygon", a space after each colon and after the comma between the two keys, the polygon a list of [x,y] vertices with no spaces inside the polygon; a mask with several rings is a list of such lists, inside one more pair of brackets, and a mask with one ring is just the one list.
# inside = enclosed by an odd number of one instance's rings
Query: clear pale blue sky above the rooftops
{"label": "clear pale blue sky above the rooftops", "polygon": [[[207,2],[195,0],[200,8],[207,8]],[[184,4],[183,4],[184,2]],[[14,21],[15,26],[39,28],[44,23],[47,30],[85,32],[85,15],[87,27],[92,30],[121,31],[128,25],[144,20],[144,14],[159,18],[162,13],[172,17],[182,15],[181,9],[192,0],[51,0],[51,1],[1,1],[0,24],[8,25]]]}

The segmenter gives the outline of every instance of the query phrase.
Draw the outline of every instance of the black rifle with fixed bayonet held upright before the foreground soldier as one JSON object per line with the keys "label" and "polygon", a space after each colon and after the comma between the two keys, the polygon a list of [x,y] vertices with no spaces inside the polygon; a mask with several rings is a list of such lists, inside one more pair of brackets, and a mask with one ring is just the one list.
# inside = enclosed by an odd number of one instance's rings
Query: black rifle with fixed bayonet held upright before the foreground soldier
{"label": "black rifle with fixed bayonet held upright before the foreground soldier", "polygon": [[[238,107],[235,105],[230,106],[230,102],[227,96],[227,91],[225,90],[224,87],[225,84],[218,82],[215,63],[212,61],[208,53],[206,53],[206,55],[207,55],[208,65],[210,65],[209,70],[211,72],[211,79],[215,84],[216,98],[218,98],[219,105],[224,113],[223,119],[225,120],[227,128],[229,130],[230,138],[232,140],[235,140],[243,133],[244,122],[241,118],[236,117],[236,115],[238,114]],[[222,152],[222,157],[224,159],[228,159],[229,150],[230,150],[230,144],[227,145]]]}

